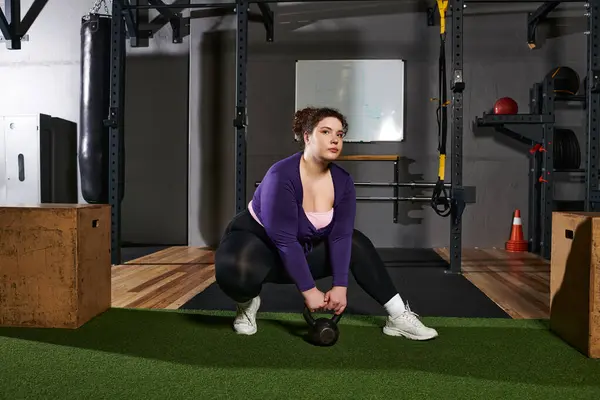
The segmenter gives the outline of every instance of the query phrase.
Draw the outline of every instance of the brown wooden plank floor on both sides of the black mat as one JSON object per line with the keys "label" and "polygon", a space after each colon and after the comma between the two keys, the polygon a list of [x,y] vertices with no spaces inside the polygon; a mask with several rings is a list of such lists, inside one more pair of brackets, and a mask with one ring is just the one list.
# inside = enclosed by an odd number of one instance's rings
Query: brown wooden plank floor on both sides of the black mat
{"label": "brown wooden plank floor on both sides of the black mat", "polygon": [[[449,259],[448,249],[436,249]],[[464,249],[465,277],[515,319],[548,318],[550,264],[529,253]],[[215,281],[214,253],[170,247],[112,270],[112,305],[177,309]]]}

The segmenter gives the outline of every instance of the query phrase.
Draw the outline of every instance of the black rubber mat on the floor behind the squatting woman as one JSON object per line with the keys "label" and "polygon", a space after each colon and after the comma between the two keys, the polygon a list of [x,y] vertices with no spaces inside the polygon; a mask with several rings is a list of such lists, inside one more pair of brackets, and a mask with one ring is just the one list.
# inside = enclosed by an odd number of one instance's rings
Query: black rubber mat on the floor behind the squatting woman
{"label": "black rubber mat on the floor behind the squatting woman", "polygon": [[[418,249],[410,257],[410,250],[401,252],[409,259],[427,260],[426,250]],[[385,254],[388,252],[388,254]],[[398,265],[395,262],[388,271],[400,295],[408,301],[410,308],[421,316],[465,317],[465,318],[510,318],[500,307],[483,294],[462,275],[447,274],[445,267],[423,266],[434,264],[439,256],[429,250],[428,263],[416,266]],[[391,250],[382,253],[384,260],[395,259]],[[397,256],[398,254],[396,254]],[[392,260],[393,261],[393,260]],[[403,263],[405,264],[405,263]],[[446,264],[444,262],[444,264]],[[326,291],[331,288],[331,278],[317,281],[317,287]],[[260,294],[264,312],[301,312],[302,296],[293,285],[265,284]],[[235,310],[235,303],[213,283],[199,293],[181,309],[194,310]],[[383,308],[358,286],[352,276],[348,287],[348,314],[385,315]]]}

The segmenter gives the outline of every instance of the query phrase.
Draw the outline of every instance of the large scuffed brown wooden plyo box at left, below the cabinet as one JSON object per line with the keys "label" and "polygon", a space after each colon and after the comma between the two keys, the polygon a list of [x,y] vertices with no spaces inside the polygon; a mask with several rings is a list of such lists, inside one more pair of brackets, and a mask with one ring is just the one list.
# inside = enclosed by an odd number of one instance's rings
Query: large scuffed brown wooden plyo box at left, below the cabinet
{"label": "large scuffed brown wooden plyo box at left, below the cabinet", "polygon": [[110,206],[0,206],[0,326],[78,328],[111,305]]}

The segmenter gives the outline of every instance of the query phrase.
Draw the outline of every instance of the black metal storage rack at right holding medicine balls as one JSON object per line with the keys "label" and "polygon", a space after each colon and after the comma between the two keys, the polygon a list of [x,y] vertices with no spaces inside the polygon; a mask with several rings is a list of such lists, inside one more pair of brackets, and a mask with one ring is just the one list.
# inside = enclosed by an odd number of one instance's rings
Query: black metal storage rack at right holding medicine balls
{"label": "black metal storage rack at right holding medicine balls", "polygon": [[[528,42],[530,48],[536,47],[535,27],[552,11],[558,3],[546,2],[531,13],[528,19]],[[560,95],[554,93],[553,82],[544,78],[529,90],[529,113],[516,115],[483,114],[476,118],[478,126],[493,126],[500,133],[507,134],[532,146],[529,158],[529,215],[528,240],[529,251],[551,258],[552,250],[552,213],[555,210],[554,175],[557,172],[584,172],[585,197],[584,211],[600,209],[600,190],[598,190],[598,140],[600,113],[600,0],[584,3],[588,20],[587,36],[587,79],[585,95]],[[586,111],[586,145],[582,159],[582,169],[561,171],[555,168],[554,133],[555,102],[581,102]]]}

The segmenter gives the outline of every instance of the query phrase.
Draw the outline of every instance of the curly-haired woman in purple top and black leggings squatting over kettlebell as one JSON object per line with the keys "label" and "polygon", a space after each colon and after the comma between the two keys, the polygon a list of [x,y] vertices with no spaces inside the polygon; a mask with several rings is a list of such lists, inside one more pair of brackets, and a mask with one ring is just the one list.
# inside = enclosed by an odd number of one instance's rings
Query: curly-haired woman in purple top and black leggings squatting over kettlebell
{"label": "curly-haired woman in purple top and black leggings squatting over kettlebell", "polygon": [[[348,273],[387,311],[383,332],[414,340],[436,337],[404,305],[371,241],[354,229],[352,177],[334,164],[348,130],[330,108],[305,108],[293,130],[304,149],[275,163],[248,209],[229,224],[215,255],[217,284],[237,302],[234,329],[257,331],[259,293],[265,282],[293,283],[312,310],[344,311]],[[315,279],[333,277],[327,293]]]}

